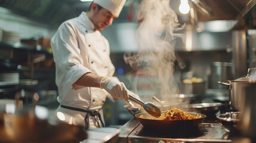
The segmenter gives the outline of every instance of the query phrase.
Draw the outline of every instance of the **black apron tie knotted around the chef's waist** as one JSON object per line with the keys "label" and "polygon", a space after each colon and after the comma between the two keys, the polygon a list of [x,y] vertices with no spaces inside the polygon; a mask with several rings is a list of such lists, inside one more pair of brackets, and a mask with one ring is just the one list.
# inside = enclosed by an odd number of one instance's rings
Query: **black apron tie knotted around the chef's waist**
{"label": "black apron tie knotted around the chef's waist", "polygon": [[[101,125],[104,127],[104,123],[103,120],[101,119],[100,113],[98,113],[98,111],[90,111],[90,110],[84,110],[81,108],[75,108],[75,107],[70,107],[70,106],[66,106],[66,105],[60,105],[60,107],[62,108],[67,108],[69,110],[75,110],[75,111],[81,111],[81,112],[85,112],[87,113],[87,115],[85,116],[85,130],[89,129],[89,117],[88,114],[90,114],[91,116],[93,116],[96,120],[96,122],[98,123],[98,119],[100,119],[100,123]],[[96,118],[96,116],[98,116],[98,119]],[[98,127],[100,127],[100,123],[98,123]]]}

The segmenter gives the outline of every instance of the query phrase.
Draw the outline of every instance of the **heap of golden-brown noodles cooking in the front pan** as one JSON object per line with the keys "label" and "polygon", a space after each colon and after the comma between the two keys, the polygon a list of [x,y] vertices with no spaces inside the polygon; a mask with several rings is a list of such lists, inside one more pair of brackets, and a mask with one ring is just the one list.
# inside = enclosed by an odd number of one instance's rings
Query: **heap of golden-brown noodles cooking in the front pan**
{"label": "heap of golden-brown noodles cooking in the front pan", "polygon": [[[143,115],[140,118],[144,118]],[[201,119],[202,116],[192,116],[186,113],[183,110],[178,108],[172,108],[171,110],[166,110],[164,114],[162,114],[159,118],[154,118],[155,120],[193,120],[193,119]],[[153,118],[150,118],[153,119]]]}

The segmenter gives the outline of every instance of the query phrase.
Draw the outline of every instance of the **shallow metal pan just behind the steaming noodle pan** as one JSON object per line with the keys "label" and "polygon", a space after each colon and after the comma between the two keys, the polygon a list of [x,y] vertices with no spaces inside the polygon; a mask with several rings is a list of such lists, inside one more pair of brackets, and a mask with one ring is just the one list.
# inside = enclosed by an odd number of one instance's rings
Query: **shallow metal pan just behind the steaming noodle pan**
{"label": "shallow metal pan just behind the steaming noodle pan", "polygon": [[186,105],[187,111],[209,115],[215,115],[218,111],[224,110],[225,104],[220,102],[204,102]]}

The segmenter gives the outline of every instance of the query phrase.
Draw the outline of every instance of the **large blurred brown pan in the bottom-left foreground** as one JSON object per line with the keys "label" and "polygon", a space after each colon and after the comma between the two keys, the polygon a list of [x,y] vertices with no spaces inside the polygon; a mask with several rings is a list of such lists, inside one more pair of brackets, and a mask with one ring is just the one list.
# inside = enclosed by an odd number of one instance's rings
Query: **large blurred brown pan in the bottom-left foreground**
{"label": "large blurred brown pan in the bottom-left foreground", "polygon": [[33,114],[0,115],[0,142],[81,142],[87,137],[82,126],[63,122],[51,125]]}

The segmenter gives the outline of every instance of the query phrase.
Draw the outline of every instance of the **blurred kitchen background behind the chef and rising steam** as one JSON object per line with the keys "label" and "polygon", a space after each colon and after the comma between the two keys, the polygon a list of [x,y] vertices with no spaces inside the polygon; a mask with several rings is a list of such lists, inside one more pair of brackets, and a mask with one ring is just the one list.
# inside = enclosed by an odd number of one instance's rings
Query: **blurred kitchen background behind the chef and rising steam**
{"label": "blurred kitchen background behind the chef and rising steam", "polygon": [[[137,71],[125,63],[124,54],[139,49],[135,31],[140,2],[127,0],[119,18],[101,32],[110,43],[115,76],[131,91]],[[0,0],[0,99],[20,94],[29,102],[36,92],[39,105],[53,110],[58,107],[50,40],[63,21],[87,11],[90,4],[79,0]],[[186,23],[178,31],[186,35],[186,42],[177,39],[175,45],[176,55],[186,67],[180,69],[176,64],[176,80],[199,77],[206,82],[206,94],[227,96],[226,86],[217,82],[245,76],[248,68],[256,67],[255,4],[251,0],[171,0],[169,5],[179,23]],[[156,94],[143,81],[136,88],[134,92],[142,99]],[[124,105],[106,101],[106,125],[124,125],[131,119]]]}

